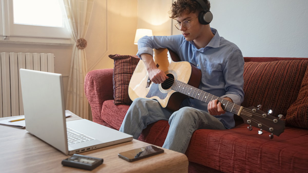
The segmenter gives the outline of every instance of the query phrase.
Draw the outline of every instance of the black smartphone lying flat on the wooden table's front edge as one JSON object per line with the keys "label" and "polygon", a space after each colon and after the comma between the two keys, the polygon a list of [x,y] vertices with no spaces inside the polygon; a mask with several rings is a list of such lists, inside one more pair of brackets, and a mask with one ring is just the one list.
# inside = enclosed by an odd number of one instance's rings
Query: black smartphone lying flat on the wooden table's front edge
{"label": "black smartphone lying flat on the wooden table's front edge", "polygon": [[149,145],[147,147],[138,148],[135,150],[125,151],[123,153],[119,153],[118,156],[128,162],[133,162],[136,160],[140,160],[146,157],[150,157],[152,155],[157,155],[163,153],[164,150],[157,148],[153,145]]}

